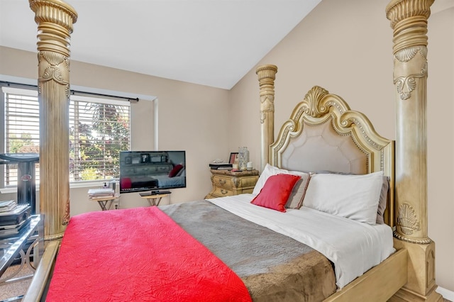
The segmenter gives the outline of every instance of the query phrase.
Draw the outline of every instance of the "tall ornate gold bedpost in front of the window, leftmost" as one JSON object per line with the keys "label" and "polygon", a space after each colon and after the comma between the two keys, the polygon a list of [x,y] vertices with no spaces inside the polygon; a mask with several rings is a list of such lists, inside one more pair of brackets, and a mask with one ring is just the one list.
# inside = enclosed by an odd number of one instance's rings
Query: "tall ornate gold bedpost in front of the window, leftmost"
{"label": "tall ornate gold bedpost in front of the window, leftmost", "polygon": [[55,240],[70,218],[70,33],[77,13],[60,0],[29,2],[38,24],[40,213],[45,240]]}

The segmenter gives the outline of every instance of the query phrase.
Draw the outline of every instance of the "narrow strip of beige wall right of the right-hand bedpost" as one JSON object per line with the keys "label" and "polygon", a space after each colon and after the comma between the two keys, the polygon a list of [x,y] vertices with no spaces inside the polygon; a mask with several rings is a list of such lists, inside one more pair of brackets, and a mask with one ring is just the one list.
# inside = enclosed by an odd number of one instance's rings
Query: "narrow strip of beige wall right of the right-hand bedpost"
{"label": "narrow strip of beige wall right of the right-hand bedpost", "polygon": [[428,23],[428,235],[436,242],[436,278],[454,291],[454,6]]}

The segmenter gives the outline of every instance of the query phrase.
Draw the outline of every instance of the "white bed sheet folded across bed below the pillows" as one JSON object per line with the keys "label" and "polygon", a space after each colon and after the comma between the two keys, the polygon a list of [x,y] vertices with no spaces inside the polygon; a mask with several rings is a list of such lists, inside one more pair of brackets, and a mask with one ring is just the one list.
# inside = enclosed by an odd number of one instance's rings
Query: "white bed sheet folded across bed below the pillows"
{"label": "white bed sheet folded across bed below the pillows", "polygon": [[338,289],[395,252],[389,225],[360,223],[304,206],[282,213],[253,205],[254,196],[240,194],[208,201],[321,252],[334,263]]}

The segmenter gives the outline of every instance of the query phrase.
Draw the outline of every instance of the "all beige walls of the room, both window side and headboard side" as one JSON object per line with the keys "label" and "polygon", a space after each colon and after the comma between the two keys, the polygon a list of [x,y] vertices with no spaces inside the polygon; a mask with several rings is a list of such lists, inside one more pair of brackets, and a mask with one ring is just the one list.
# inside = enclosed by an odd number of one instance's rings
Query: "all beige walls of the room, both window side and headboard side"
{"label": "all beige walls of the room, both window side and headboard side", "polygon": [[[392,30],[384,14],[387,3],[323,0],[259,62],[279,69],[276,125],[289,118],[311,86],[319,85],[365,113],[379,133],[395,138]],[[436,242],[436,281],[454,291],[454,9],[448,7],[429,19],[428,233]],[[272,22],[272,18],[267,20]],[[0,74],[33,79],[36,70],[34,53],[0,47]],[[71,70],[75,85],[159,98],[160,149],[187,150],[188,187],[172,190],[172,203],[203,198],[211,189],[208,162],[226,159],[238,146],[249,147],[250,159],[258,167],[260,106],[255,68],[231,91],[80,62],[72,62]],[[144,116],[146,120],[149,115],[141,114],[133,117],[133,128],[148,137],[149,120],[144,121]],[[134,143],[148,147],[143,141]],[[87,188],[71,190],[72,215],[99,210],[87,200],[86,192]],[[135,194],[122,196],[122,207],[145,204]]]}

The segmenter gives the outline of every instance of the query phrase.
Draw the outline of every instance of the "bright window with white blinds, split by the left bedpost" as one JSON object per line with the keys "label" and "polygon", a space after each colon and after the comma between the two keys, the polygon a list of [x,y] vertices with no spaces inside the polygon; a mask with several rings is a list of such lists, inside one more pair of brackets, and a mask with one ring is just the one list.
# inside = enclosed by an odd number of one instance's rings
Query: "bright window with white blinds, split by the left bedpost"
{"label": "bright window with white blinds, split by the left bedpost", "polygon": [[[4,153],[39,152],[38,92],[1,87]],[[87,94],[88,95],[88,94]],[[130,149],[130,103],[70,96],[70,181],[118,178],[120,150]],[[17,184],[17,166],[4,164],[4,186]],[[39,177],[39,163],[36,166]]]}

